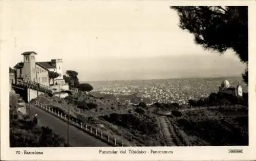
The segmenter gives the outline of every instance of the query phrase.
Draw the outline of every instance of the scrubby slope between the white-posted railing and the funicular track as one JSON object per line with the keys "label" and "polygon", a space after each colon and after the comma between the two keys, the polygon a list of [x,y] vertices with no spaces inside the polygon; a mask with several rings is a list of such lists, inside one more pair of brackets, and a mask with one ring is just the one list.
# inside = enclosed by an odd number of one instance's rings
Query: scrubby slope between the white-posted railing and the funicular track
{"label": "scrubby slope between the white-posted railing and the funicular track", "polygon": [[[79,97],[78,101],[83,100],[83,98],[84,96]],[[55,96],[39,96],[36,100],[65,111],[68,111],[68,106],[70,106],[70,111],[74,117],[110,136],[122,139],[128,145],[163,145],[161,143],[163,138],[159,135],[160,130],[157,126],[156,117],[150,110],[145,110],[145,114],[138,114],[135,112],[136,106],[93,97],[89,97],[87,102],[96,103],[98,107],[91,110],[80,110],[74,102],[68,104],[64,99]]]}

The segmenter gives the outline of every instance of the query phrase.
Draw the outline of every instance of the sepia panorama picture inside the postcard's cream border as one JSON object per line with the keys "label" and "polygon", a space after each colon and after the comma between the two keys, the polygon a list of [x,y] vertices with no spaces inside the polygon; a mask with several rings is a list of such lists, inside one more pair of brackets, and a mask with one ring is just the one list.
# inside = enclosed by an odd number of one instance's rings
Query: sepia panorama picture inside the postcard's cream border
{"label": "sepia panorama picture inside the postcard's cream border", "polygon": [[6,12],[10,148],[249,146],[248,6],[49,5]]}

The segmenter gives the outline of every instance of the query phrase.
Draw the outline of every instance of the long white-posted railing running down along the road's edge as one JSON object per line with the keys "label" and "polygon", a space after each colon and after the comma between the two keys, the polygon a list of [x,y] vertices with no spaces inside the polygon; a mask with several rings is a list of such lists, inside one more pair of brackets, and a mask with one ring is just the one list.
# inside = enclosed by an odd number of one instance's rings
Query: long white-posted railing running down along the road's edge
{"label": "long white-posted railing running down along the road's edge", "polygon": [[63,114],[57,110],[53,110],[53,108],[49,105],[46,105],[46,104],[38,102],[38,101],[35,101],[34,104],[38,108],[54,115],[55,117],[61,119],[62,121],[65,121],[65,122],[79,128],[80,130],[82,130],[84,132],[89,133],[90,135],[96,137],[97,139],[99,139],[111,146],[128,146],[128,145],[125,145],[123,143],[123,141],[117,140],[115,137],[107,135],[106,133],[102,132],[101,130],[97,130],[96,128],[92,127],[91,125],[83,123],[76,118],[71,117],[70,119],[68,119],[68,116],[66,114]]}

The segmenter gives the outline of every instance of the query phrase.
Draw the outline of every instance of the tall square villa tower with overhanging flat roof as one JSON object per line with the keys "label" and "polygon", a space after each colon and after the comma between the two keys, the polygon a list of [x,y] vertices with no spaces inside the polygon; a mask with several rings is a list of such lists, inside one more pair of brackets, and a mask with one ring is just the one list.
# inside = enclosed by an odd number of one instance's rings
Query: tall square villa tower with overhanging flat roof
{"label": "tall square villa tower with overhanging flat roof", "polygon": [[24,56],[24,66],[23,66],[23,73],[20,73],[23,78],[33,80],[36,77],[35,72],[35,55],[37,55],[34,51],[27,51],[23,52],[22,55]]}

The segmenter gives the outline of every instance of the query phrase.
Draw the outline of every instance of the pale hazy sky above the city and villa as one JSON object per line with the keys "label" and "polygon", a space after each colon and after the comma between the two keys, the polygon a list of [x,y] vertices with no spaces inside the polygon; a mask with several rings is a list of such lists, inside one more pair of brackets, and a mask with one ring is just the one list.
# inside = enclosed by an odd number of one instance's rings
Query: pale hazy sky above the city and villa
{"label": "pale hazy sky above the city and villa", "polygon": [[245,65],[228,50],[204,50],[178,27],[166,3],[15,1],[5,11],[9,65],[35,51],[36,61],[63,59],[81,81],[241,76]]}

